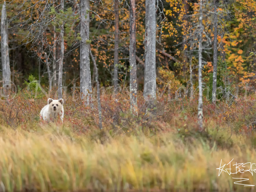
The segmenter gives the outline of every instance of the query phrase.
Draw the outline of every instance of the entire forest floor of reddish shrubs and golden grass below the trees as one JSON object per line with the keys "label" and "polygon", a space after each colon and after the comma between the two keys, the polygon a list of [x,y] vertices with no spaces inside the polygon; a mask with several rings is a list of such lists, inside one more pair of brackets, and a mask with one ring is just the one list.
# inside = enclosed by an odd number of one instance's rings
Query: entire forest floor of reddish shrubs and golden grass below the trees
{"label": "entire forest floor of reddish shrubs and golden grass below the trees", "polygon": [[158,98],[153,115],[140,93],[134,117],[128,95],[105,95],[100,131],[96,101],[70,96],[64,123],[48,124],[39,118],[46,98],[17,95],[0,102],[0,191],[255,190],[241,185],[256,184],[255,99],[204,101],[199,132],[196,100]]}

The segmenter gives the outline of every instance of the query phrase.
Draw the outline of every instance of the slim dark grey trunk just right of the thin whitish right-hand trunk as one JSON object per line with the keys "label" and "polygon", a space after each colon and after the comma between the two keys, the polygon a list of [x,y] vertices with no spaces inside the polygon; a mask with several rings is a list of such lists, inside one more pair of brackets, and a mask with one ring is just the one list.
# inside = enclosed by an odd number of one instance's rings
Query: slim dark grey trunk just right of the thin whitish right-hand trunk
{"label": "slim dark grey trunk just right of the thin whitish right-hand trunk", "polygon": [[214,51],[213,51],[213,76],[212,76],[212,104],[216,104],[216,88],[217,88],[217,51],[218,51],[218,18],[217,18],[217,2],[214,0]]}

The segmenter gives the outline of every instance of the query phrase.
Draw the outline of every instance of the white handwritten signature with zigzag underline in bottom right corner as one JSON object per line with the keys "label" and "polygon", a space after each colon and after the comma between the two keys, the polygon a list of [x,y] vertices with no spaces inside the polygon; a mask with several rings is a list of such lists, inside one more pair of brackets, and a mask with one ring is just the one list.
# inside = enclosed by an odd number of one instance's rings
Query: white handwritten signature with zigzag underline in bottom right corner
{"label": "white handwritten signature with zigzag underline in bottom right corner", "polygon": [[[248,163],[236,163],[236,164],[233,164],[232,166],[236,166],[236,172],[232,173],[232,172],[231,172],[231,162],[232,162],[233,160],[234,160],[234,159],[232,159],[228,164],[224,164],[223,166],[221,166],[222,160],[220,160],[220,168],[217,168],[217,169],[219,170],[219,176],[220,176],[220,174],[221,174],[222,171],[228,173],[229,175],[231,175],[231,174],[237,174],[237,173],[244,173],[244,172],[247,172],[247,171],[248,171],[248,172],[250,172],[250,173],[252,174],[252,176],[253,176],[253,172],[256,173],[256,169],[252,169],[252,166],[253,166],[253,165],[256,166],[256,164],[255,164],[255,163],[250,163],[250,162],[248,162]],[[246,164],[249,164],[250,169],[248,169],[248,170],[245,169],[245,165],[246,165]],[[229,168],[224,170],[224,167],[225,167],[226,165],[229,165]],[[256,168],[256,167],[255,167],[255,168]],[[228,171],[228,170],[229,170],[229,171]],[[232,177],[232,178],[233,178],[233,177]],[[244,186],[255,186],[255,185],[248,185],[248,184],[238,183],[238,182],[248,181],[248,180],[249,180],[248,178],[233,178],[233,179],[243,179],[243,180],[241,180],[241,181],[236,181],[236,182],[234,182],[234,184],[239,184],[239,185],[244,185]]]}

